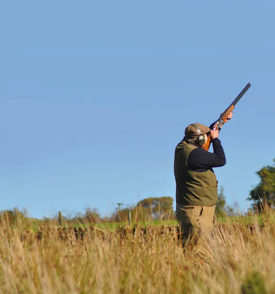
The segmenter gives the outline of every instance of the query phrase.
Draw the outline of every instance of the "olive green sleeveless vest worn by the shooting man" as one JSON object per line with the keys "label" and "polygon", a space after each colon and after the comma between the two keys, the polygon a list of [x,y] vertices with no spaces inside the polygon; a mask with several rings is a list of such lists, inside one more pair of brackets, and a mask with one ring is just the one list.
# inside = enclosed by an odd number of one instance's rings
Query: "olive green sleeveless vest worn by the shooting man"
{"label": "olive green sleeveless vest worn by the shooting man", "polygon": [[182,141],[175,149],[176,203],[212,206],[218,201],[218,181],[212,168],[207,172],[189,169],[188,157],[194,148],[197,147]]}

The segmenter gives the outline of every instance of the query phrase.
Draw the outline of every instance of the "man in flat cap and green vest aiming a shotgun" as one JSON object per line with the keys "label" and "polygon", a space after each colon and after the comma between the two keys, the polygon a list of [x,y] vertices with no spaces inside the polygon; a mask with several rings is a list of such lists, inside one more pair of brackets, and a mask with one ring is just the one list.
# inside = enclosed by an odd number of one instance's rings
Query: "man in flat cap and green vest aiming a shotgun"
{"label": "man in flat cap and green vest aiming a shotgun", "polygon": [[[232,115],[230,112],[225,123]],[[213,153],[202,148],[209,132]],[[213,168],[225,164],[219,130],[210,130],[200,123],[186,127],[185,137],[175,149],[176,216],[185,250],[194,248],[202,258],[205,256],[203,236],[212,230],[218,201],[218,181]]]}

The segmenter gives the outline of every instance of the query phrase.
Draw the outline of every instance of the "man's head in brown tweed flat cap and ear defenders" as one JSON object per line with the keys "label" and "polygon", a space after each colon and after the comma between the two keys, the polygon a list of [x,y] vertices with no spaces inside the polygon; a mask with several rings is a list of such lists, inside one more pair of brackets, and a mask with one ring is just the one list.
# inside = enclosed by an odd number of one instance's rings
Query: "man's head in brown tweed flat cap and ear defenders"
{"label": "man's head in brown tweed flat cap and ear defenders", "polygon": [[207,141],[206,133],[210,132],[210,128],[201,123],[192,123],[185,129],[185,141],[189,144],[193,144],[201,147],[200,142]]}

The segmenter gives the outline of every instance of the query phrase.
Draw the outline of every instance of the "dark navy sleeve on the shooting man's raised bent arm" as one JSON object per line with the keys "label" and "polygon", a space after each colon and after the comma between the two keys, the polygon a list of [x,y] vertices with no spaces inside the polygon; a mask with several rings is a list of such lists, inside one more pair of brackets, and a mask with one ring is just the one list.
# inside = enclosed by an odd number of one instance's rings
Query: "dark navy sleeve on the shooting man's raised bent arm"
{"label": "dark navy sleeve on the shooting man's raised bent arm", "polygon": [[188,167],[191,170],[218,168],[226,164],[226,158],[219,138],[212,141],[213,153],[202,148],[193,149],[188,157]]}

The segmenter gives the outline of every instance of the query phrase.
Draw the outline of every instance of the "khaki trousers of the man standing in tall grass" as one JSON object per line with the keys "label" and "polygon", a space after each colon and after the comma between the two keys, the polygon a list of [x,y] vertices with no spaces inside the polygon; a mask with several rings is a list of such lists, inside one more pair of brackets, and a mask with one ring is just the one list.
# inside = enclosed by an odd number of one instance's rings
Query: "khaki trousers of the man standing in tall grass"
{"label": "khaki trousers of the man standing in tall grass", "polygon": [[216,205],[176,205],[176,217],[182,234],[184,251],[205,256],[205,236],[212,232]]}

